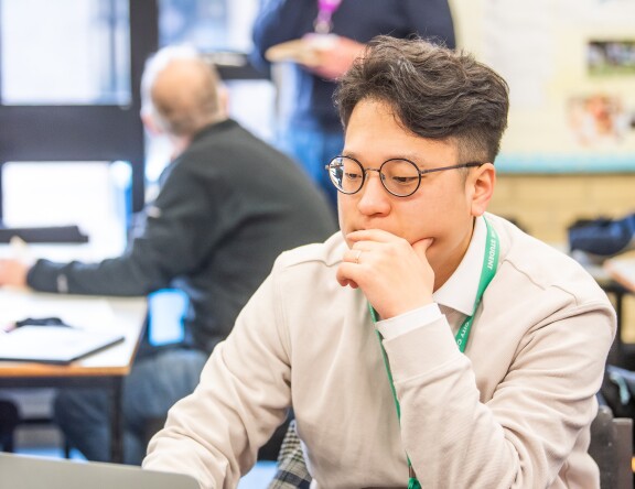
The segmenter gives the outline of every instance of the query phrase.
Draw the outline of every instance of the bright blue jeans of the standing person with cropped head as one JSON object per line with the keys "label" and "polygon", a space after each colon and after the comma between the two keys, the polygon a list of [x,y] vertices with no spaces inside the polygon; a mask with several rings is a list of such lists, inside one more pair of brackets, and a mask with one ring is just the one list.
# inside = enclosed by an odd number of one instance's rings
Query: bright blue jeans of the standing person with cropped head
{"label": "bright blue jeans of the standing person with cropped head", "polygon": [[324,192],[333,209],[336,209],[337,191],[324,166],[333,156],[342,154],[344,148],[342,131],[288,127],[281,131],[278,146],[302,165],[311,180]]}

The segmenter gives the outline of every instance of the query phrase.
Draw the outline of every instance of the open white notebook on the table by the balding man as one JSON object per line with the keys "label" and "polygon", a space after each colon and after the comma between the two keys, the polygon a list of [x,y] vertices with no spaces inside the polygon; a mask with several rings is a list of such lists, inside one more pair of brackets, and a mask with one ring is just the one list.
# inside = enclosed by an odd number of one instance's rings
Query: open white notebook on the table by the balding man
{"label": "open white notebook on the table by the balding man", "polygon": [[69,363],[122,340],[117,330],[22,326],[0,332],[0,360]]}

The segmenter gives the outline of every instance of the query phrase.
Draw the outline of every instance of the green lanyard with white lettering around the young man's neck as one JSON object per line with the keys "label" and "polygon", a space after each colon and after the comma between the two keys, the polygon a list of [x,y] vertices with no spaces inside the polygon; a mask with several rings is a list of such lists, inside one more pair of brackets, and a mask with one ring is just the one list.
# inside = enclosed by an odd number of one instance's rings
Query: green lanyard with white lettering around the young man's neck
{"label": "green lanyard with white lettering around the young man's neck", "polygon": [[[476,298],[474,300],[474,308],[472,311],[472,315],[466,317],[463,320],[463,324],[456,332],[454,339],[456,340],[456,345],[459,346],[459,350],[461,352],[465,351],[465,347],[467,346],[467,339],[470,338],[470,330],[472,329],[472,323],[474,322],[474,314],[476,314],[476,308],[478,304],[481,304],[481,298],[483,297],[483,293],[492,279],[494,279],[494,274],[496,273],[496,268],[498,267],[498,253],[499,253],[499,242],[498,242],[498,235],[496,230],[489,226],[487,219],[485,220],[485,226],[487,227],[487,241],[485,243],[485,254],[483,257],[483,268],[481,269],[481,280],[478,281],[478,290],[476,291]],[[370,304],[368,304],[368,308],[370,309],[370,316],[373,317],[373,323],[377,323],[377,312],[373,308]],[[377,338],[379,339],[379,346],[381,347],[381,356],[384,357],[384,365],[386,366],[386,372],[388,373],[388,380],[390,382],[390,389],[392,390],[392,399],[395,400],[395,408],[397,409],[397,419],[401,420],[401,409],[399,408],[399,400],[397,399],[397,392],[395,390],[395,383],[392,382],[392,372],[390,371],[390,363],[388,362],[388,357],[386,355],[386,350],[384,349],[384,344],[381,343],[381,334],[379,330],[375,330],[377,333]],[[415,474],[415,469],[412,468],[412,464],[410,463],[410,457],[406,455],[408,459],[408,472],[409,472],[409,480],[408,480],[408,489],[421,489],[421,485],[419,480],[417,480],[417,475]]]}

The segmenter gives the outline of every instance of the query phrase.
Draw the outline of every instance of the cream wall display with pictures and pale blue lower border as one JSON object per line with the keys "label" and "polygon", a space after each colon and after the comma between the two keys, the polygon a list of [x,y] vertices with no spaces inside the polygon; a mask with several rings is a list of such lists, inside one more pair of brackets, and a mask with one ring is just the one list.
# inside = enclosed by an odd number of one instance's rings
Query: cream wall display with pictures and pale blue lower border
{"label": "cream wall display with pictures and pale blue lower border", "polygon": [[501,171],[635,172],[635,0],[453,8],[462,46],[509,84]]}

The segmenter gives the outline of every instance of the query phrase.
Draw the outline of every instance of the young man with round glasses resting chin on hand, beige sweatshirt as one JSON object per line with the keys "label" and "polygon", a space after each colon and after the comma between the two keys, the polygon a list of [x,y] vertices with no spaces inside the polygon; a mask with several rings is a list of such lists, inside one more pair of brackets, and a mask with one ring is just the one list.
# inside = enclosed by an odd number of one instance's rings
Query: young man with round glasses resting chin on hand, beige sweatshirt
{"label": "young man with round glasses resting chin on hand, beige sweatshirt", "polygon": [[293,405],[311,487],[599,487],[615,315],[573,260],[486,214],[505,82],[377,37],[336,104],[341,232],[278,259],[144,466],[234,487]]}

